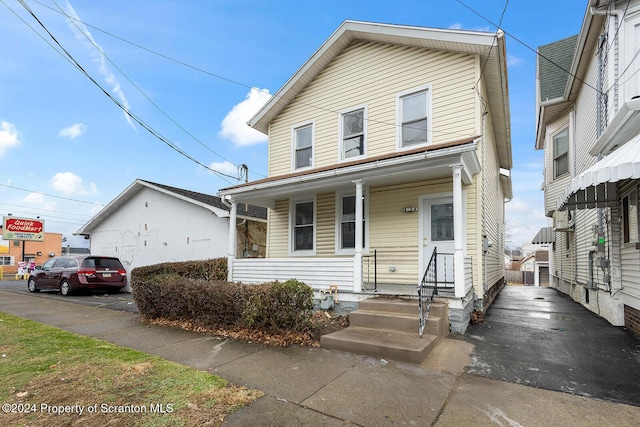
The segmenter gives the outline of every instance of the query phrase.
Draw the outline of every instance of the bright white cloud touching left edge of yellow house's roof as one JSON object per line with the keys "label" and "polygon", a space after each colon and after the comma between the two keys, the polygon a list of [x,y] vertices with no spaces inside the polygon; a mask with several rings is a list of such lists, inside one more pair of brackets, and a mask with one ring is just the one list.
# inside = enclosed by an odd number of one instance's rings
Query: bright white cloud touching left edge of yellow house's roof
{"label": "bright white cloud touching left edge of yellow house's roof", "polygon": [[251,88],[244,101],[236,104],[222,120],[220,136],[239,146],[266,142],[267,136],[249,127],[247,122],[269,99],[267,89]]}

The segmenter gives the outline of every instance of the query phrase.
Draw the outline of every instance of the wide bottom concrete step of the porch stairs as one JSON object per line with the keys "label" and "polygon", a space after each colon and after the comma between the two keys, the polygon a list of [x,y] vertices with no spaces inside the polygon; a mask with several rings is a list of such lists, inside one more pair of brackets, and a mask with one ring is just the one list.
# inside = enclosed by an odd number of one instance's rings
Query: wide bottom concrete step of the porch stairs
{"label": "wide bottom concrete step of the porch stairs", "polygon": [[323,335],[320,338],[320,346],[329,350],[420,364],[439,339],[436,335],[423,335],[420,338],[417,333],[404,334],[349,326],[341,331]]}

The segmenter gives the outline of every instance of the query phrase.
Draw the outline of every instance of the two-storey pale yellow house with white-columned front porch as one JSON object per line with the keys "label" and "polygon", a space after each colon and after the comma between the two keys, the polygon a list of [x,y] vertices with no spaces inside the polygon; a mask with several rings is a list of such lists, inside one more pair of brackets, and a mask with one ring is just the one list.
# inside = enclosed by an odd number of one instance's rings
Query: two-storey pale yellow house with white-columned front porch
{"label": "two-storey pale yellow house with white-columned front porch", "polygon": [[506,61],[502,32],[344,22],[249,122],[268,178],[218,195],[269,208],[267,259],[230,252],[229,279],[416,295],[437,248],[464,331],[504,284]]}

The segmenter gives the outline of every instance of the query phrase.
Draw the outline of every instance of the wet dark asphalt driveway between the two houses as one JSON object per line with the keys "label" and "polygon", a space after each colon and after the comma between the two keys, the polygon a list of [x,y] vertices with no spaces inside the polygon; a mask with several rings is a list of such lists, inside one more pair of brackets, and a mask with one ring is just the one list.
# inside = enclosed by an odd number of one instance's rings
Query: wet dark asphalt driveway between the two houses
{"label": "wet dark asphalt driveway between the two houses", "polygon": [[640,406],[640,340],[553,288],[505,287],[462,339],[468,373]]}

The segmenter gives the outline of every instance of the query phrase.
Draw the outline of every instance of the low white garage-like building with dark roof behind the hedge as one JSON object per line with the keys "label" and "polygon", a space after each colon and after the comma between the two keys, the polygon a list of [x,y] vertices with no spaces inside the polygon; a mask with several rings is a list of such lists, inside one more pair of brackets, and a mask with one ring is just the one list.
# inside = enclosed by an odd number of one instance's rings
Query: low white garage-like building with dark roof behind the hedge
{"label": "low white garage-like building with dark roof behind the hedge", "polygon": [[[265,254],[266,209],[238,207],[231,227],[236,251]],[[90,238],[91,253],[120,258],[130,274],[135,267],[162,262],[226,257],[229,206],[216,196],[136,180],[76,234]]]}

